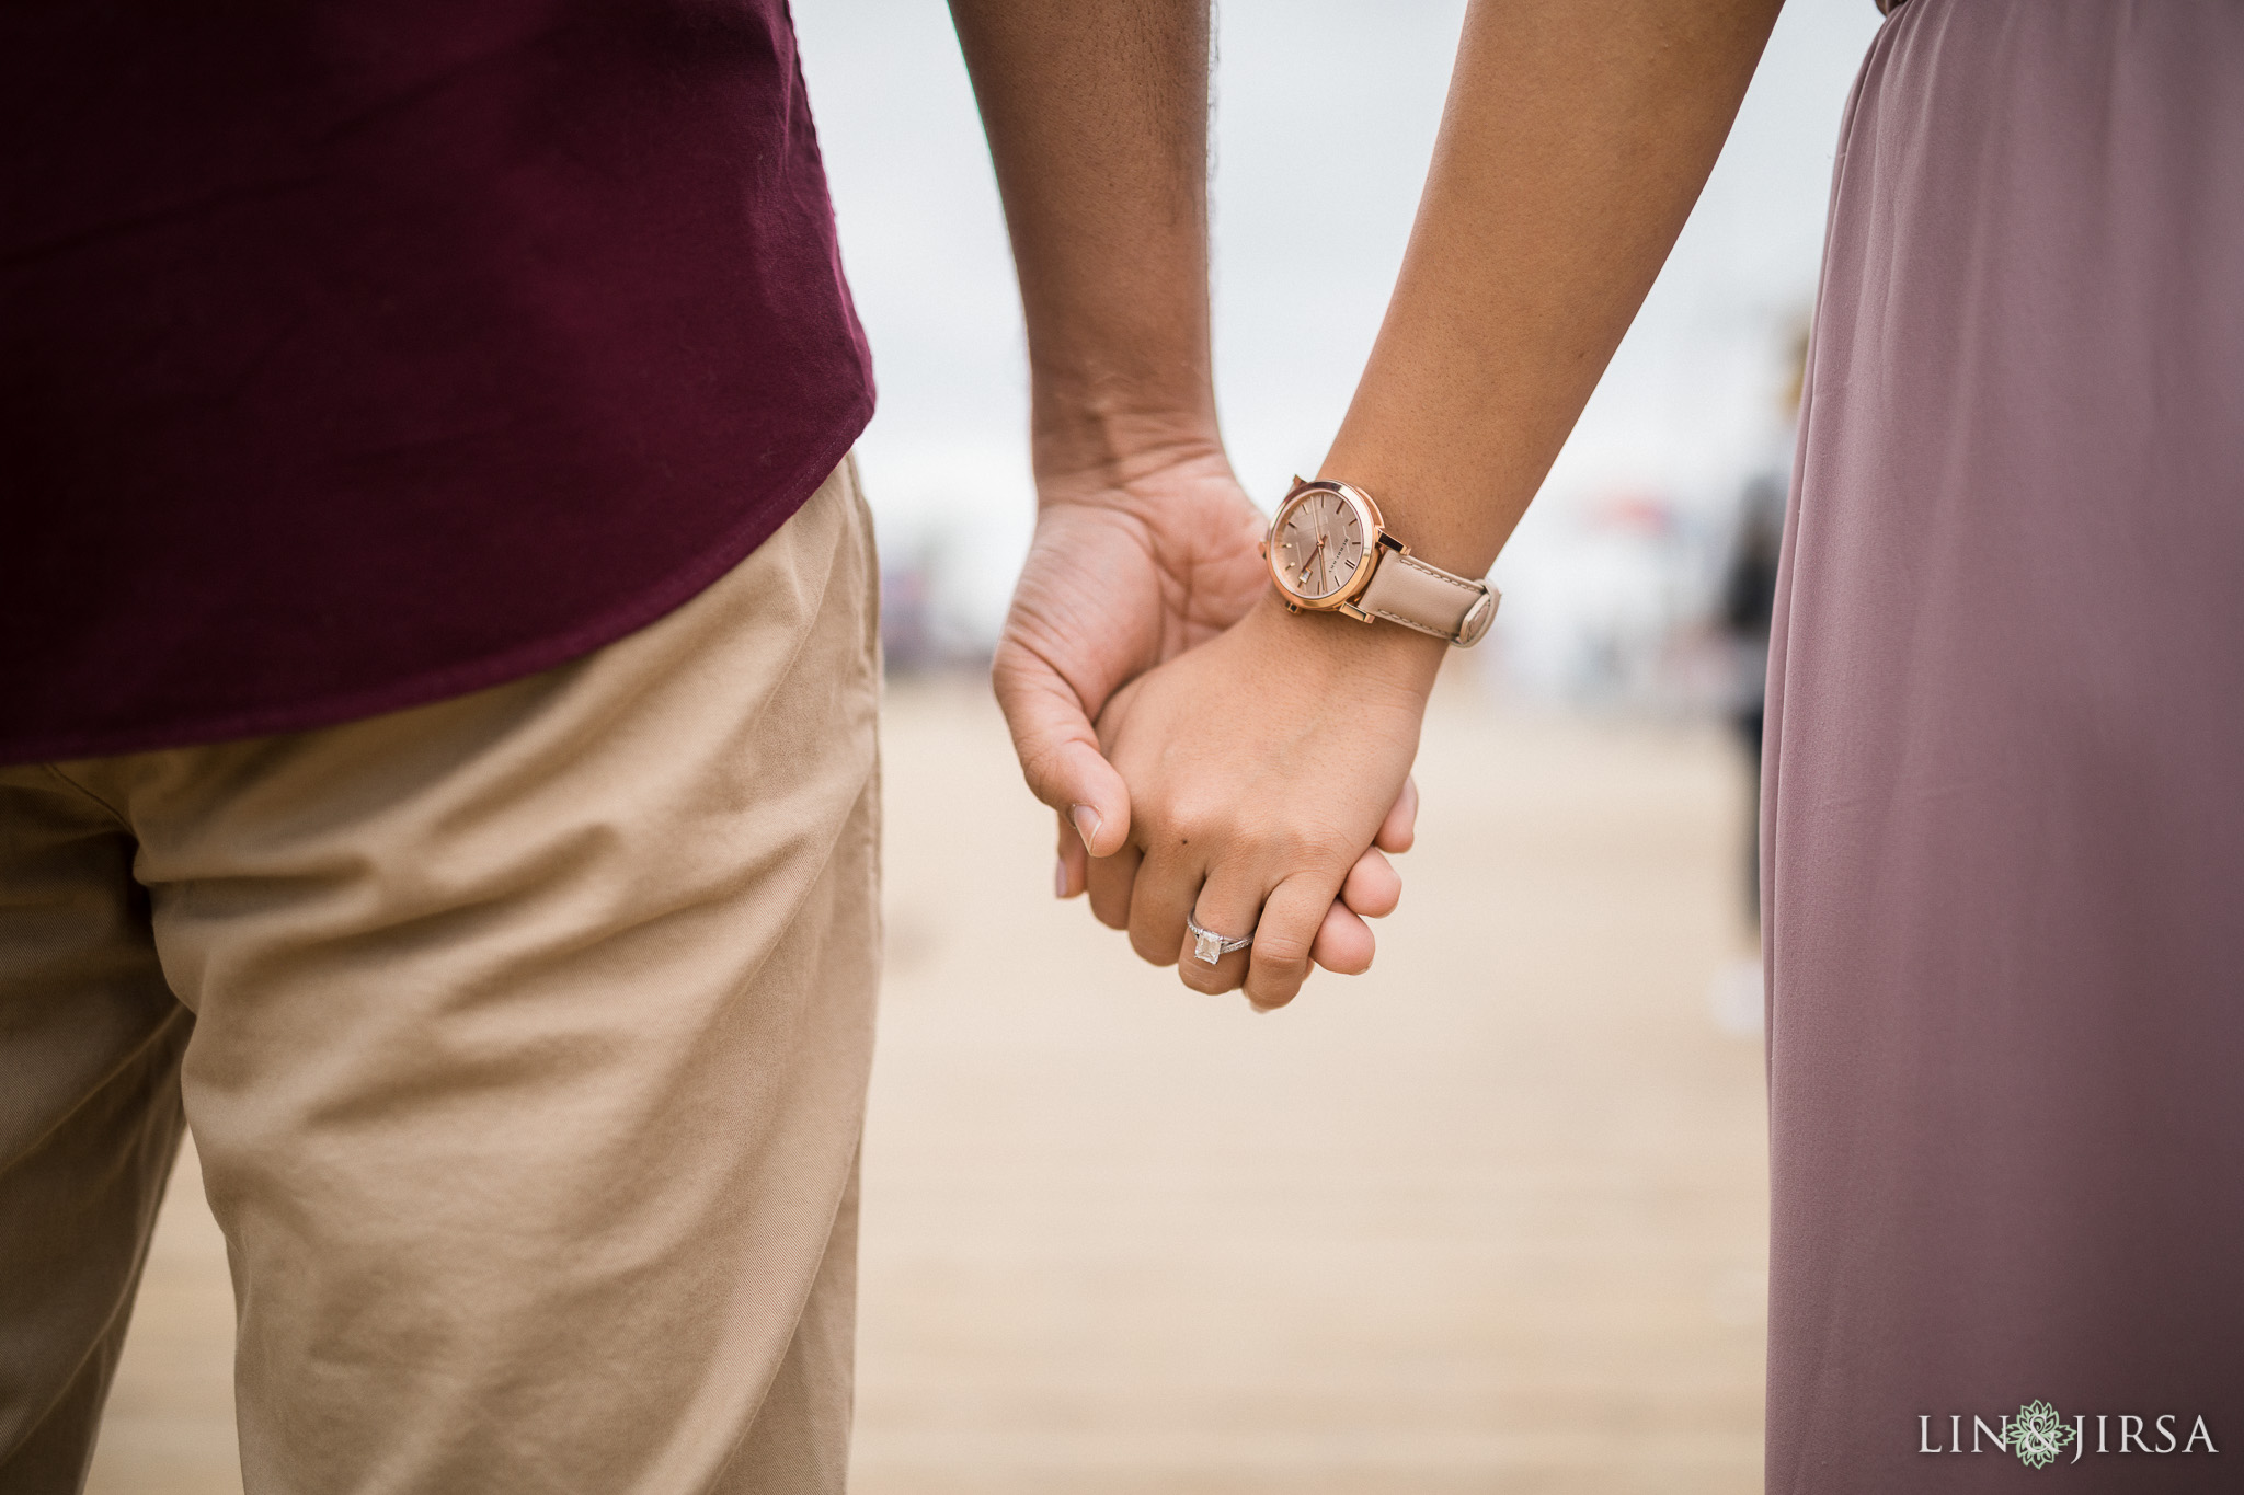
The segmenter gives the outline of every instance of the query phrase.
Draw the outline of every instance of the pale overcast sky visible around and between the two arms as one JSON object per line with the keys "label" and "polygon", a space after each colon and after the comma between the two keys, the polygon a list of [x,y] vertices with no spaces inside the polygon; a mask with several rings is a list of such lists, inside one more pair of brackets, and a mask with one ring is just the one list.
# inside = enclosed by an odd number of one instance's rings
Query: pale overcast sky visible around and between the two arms
{"label": "pale overcast sky visible around and between the two arms", "polygon": [[[1216,399],[1263,509],[1315,468],[1371,350],[1461,18],[1461,0],[1221,0]],[[940,607],[990,637],[1034,520],[1028,368],[949,11],[797,0],[794,20],[880,381],[859,464],[882,547],[931,567]],[[1813,300],[1840,114],[1876,27],[1871,0],[1793,0],[1777,22],[1667,269],[1497,560],[1515,654],[1555,668],[1613,607],[1658,612],[1629,596],[1652,574],[1595,540],[1598,516],[1649,502],[1719,533],[1741,482],[1784,459],[1784,350]]]}

